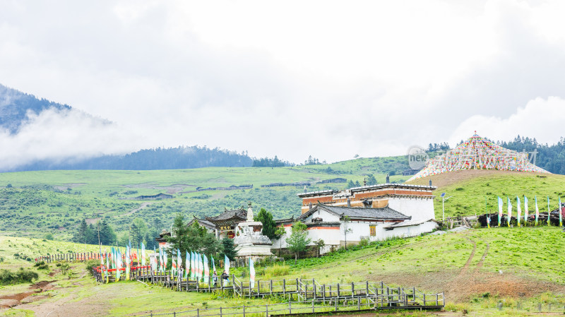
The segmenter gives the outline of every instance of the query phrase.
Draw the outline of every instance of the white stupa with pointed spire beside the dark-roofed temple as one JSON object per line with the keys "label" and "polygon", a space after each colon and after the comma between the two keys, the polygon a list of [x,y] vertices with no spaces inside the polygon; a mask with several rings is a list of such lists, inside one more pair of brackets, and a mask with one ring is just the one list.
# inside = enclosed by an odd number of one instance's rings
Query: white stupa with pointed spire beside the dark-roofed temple
{"label": "white stupa with pointed spire beside the dark-roofed temple", "polygon": [[273,242],[263,235],[263,223],[254,221],[251,203],[247,208],[247,220],[239,222],[235,227],[234,244],[238,247],[237,256],[245,258],[262,258],[271,256],[270,247]]}

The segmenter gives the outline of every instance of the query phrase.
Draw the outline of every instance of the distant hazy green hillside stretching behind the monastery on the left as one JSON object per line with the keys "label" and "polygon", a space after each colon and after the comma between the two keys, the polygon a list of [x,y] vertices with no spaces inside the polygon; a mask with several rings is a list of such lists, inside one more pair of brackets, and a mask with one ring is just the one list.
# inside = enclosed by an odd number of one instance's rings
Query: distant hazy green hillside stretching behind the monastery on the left
{"label": "distant hazy green hillside stretching behind the monastery on the left", "polygon": [[[0,173],[0,234],[68,240],[78,221],[105,219],[117,232],[140,217],[158,231],[169,227],[174,215],[213,216],[248,201],[277,217],[299,215],[302,188],[262,188],[271,183],[313,183],[309,191],[343,189],[346,184],[316,184],[336,177],[359,181],[374,174],[402,170],[404,157],[361,158],[328,165],[299,167],[208,167],[159,171],[38,171]],[[408,177],[393,176],[391,181]],[[203,187],[254,186],[251,190],[196,191]],[[136,201],[141,195],[169,193],[172,199]]]}

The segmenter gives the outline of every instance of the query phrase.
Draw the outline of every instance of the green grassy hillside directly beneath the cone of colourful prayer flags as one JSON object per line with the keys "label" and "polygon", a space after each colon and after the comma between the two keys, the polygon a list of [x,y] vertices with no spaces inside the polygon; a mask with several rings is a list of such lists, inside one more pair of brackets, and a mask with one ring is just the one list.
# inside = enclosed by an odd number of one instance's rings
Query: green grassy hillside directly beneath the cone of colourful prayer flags
{"label": "green grassy hillside directly beneath the cone of colourful prayer flags", "polygon": [[[535,196],[540,212],[547,212],[547,196],[551,201],[552,210],[557,209],[559,197],[561,201],[565,201],[565,175],[559,174],[468,170],[417,179],[411,184],[429,184],[430,179],[434,186],[438,186],[436,196],[441,193],[446,193],[446,197],[453,196],[445,202],[446,217],[475,213],[480,215],[485,213],[485,208],[489,213],[497,213],[497,197],[504,199],[504,213],[506,196],[511,199],[514,213],[516,196],[520,196],[522,210],[523,196],[528,197],[530,214],[535,210]],[[441,219],[441,198],[436,198],[434,208],[436,219]]]}

